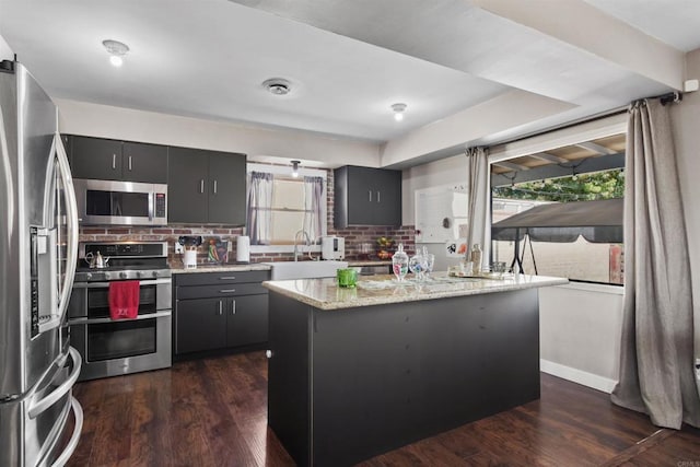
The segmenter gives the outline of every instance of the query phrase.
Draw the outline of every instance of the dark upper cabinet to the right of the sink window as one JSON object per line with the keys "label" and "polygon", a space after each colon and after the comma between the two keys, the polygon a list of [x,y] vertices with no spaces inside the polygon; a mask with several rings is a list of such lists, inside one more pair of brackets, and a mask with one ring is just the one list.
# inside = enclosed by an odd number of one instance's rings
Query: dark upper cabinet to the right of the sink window
{"label": "dark upper cabinet to the right of the sink window", "polygon": [[401,225],[401,172],[346,165],[334,171],[335,226]]}

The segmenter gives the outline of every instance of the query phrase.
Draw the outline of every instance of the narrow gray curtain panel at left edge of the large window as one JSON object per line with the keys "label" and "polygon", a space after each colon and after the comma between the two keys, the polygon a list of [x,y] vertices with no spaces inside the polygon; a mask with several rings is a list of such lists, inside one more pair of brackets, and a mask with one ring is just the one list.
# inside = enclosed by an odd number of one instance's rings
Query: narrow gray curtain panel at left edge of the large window
{"label": "narrow gray curtain panel at left edge of the large window", "polygon": [[[467,156],[468,235],[467,245],[481,246],[481,261],[488,264],[491,244],[491,179],[485,148],[469,148]],[[469,252],[467,252],[467,257]]]}

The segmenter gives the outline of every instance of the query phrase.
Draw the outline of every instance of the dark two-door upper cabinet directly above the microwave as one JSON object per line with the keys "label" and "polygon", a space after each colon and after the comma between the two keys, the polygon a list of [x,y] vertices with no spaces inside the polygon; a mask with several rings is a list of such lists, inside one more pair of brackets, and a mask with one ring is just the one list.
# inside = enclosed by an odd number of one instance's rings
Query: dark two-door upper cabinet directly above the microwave
{"label": "dark two-door upper cabinet directly above the microwave", "polygon": [[75,178],[167,183],[167,147],[79,136],[67,142]]}

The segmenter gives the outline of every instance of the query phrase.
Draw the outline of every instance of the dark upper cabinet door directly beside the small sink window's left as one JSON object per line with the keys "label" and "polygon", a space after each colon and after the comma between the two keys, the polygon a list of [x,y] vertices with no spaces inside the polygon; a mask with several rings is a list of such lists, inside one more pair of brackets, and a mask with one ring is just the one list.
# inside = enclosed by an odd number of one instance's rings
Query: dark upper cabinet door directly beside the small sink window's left
{"label": "dark upper cabinet door directly beside the small sink window's left", "polygon": [[209,223],[244,225],[245,155],[223,152],[209,154]]}

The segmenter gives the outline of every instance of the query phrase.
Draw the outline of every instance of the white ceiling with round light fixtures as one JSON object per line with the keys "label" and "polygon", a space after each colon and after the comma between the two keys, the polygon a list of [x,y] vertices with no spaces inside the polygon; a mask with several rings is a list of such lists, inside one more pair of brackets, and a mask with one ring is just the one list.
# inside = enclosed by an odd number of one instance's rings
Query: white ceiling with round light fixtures
{"label": "white ceiling with round light fixtures", "polygon": [[700,47],[700,1],[585,1],[558,27],[551,0],[0,0],[0,36],[54,97],[377,143],[514,90],[570,104],[464,141],[495,142],[679,87],[643,59]]}

